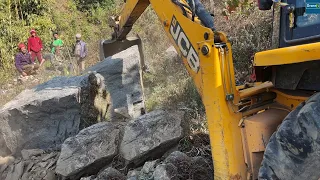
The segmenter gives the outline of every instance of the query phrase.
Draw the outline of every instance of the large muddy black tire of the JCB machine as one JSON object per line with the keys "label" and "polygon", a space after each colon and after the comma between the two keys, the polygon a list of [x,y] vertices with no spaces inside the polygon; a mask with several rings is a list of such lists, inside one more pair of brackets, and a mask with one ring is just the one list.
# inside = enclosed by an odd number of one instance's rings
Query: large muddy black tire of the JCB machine
{"label": "large muddy black tire of the JCB machine", "polygon": [[288,114],[267,144],[259,180],[320,178],[320,93]]}

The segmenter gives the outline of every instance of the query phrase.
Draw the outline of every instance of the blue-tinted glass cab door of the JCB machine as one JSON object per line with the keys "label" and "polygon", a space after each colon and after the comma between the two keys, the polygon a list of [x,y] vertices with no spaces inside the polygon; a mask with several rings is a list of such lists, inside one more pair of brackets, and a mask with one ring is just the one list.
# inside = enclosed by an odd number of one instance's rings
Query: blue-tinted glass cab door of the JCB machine
{"label": "blue-tinted glass cab door of the JCB machine", "polygon": [[[319,42],[320,14],[306,13],[306,0],[287,0],[287,3],[289,5],[280,10],[280,47]],[[294,15],[293,21],[290,21],[291,13]]]}

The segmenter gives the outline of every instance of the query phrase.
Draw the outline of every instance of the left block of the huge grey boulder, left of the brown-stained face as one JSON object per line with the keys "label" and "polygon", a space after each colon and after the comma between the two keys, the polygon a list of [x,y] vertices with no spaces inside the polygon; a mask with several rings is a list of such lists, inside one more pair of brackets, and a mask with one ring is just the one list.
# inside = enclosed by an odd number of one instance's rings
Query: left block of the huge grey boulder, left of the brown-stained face
{"label": "left block of the huge grey boulder, left of the brown-stained face", "polygon": [[57,77],[21,92],[0,109],[0,155],[58,148],[78,133],[79,87],[86,76]]}

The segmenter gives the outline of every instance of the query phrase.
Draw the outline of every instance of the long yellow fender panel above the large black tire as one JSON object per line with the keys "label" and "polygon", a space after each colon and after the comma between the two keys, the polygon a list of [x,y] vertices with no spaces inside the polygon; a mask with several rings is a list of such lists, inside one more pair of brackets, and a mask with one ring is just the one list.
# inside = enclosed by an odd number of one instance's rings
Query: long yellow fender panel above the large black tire
{"label": "long yellow fender panel above the large black tire", "polygon": [[262,51],[255,54],[255,66],[272,66],[320,60],[320,43]]}

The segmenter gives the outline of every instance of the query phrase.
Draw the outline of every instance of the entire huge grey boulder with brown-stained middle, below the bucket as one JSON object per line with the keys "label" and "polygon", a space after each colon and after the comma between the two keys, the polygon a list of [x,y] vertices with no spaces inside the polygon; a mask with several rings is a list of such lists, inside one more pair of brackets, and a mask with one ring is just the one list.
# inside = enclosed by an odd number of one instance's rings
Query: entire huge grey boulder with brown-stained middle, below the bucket
{"label": "entire huge grey boulder with brown-stained middle, below the bucket", "polygon": [[124,115],[121,118],[143,114],[139,62],[134,46],[88,68],[82,76],[57,77],[21,92],[0,109],[0,156],[22,149],[59,148],[79,130],[117,119],[114,110]]}

